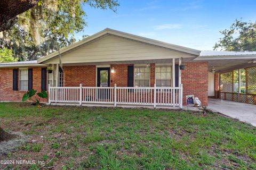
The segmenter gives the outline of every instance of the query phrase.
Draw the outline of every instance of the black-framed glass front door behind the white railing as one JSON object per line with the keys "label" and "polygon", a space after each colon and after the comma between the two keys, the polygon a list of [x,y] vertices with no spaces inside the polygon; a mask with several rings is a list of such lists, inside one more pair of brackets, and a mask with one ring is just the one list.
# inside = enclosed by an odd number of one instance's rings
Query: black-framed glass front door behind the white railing
{"label": "black-framed glass front door behind the white railing", "polygon": [[[97,70],[97,87],[110,87],[110,68],[98,68]],[[109,89],[98,90],[99,99],[109,98]]]}

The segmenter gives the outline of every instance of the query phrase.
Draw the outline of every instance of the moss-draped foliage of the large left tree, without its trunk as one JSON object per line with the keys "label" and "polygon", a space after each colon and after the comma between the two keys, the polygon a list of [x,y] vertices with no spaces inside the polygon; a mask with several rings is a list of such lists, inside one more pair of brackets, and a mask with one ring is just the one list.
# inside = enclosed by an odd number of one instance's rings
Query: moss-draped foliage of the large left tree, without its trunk
{"label": "moss-draped foliage of the large left tree, without its trunk", "polygon": [[117,0],[40,0],[20,14],[11,29],[0,32],[0,47],[12,49],[22,61],[36,60],[74,43],[74,33],[86,26],[82,5],[116,11],[119,4]]}

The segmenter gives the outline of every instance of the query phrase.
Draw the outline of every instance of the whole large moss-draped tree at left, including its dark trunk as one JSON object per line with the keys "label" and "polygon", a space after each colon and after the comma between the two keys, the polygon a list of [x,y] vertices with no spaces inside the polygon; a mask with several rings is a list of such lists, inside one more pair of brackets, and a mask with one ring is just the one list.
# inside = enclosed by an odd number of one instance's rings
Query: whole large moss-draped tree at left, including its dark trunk
{"label": "whole large moss-draped tree at left, including its dark trunk", "polygon": [[[56,41],[58,48],[74,43],[72,35],[86,25],[81,3],[113,11],[119,5],[117,0],[0,0],[0,48],[9,55],[6,48],[11,49],[19,60],[33,60],[57,50]],[[11,137],[0,128],[0,141]]]}

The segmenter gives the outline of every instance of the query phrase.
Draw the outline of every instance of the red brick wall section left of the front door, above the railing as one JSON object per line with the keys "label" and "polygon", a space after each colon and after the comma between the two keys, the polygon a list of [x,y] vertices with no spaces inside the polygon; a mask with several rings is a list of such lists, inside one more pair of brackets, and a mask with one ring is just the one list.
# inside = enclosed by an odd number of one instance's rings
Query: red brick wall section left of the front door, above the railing
{"label": "red brick wall section left of the front door, above the railing", "polygon": [[96,86],[96,66],[64,66],[63,67],[64,86]]}

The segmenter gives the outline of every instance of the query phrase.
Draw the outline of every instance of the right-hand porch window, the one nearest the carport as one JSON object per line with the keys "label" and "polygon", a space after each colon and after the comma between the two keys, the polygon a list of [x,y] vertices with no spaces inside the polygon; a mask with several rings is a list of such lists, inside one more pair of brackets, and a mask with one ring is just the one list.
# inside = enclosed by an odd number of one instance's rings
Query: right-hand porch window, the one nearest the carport
{"label": "right-hand porch window, the one nearest the carport", "polygon": [[171,66],[156,66],[156,86],[171,87],[172,80]]}

